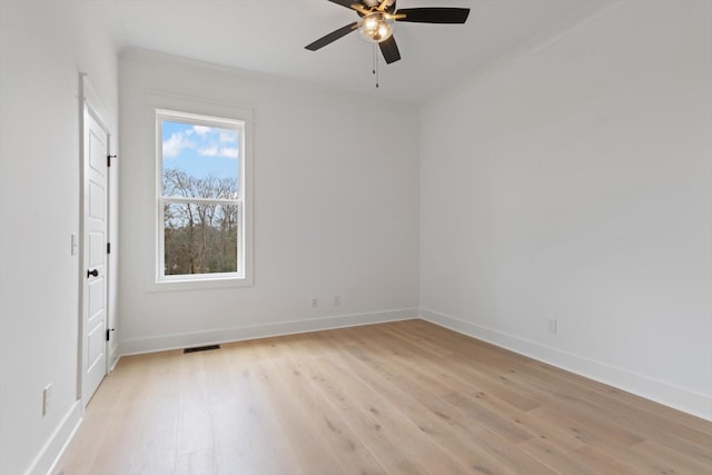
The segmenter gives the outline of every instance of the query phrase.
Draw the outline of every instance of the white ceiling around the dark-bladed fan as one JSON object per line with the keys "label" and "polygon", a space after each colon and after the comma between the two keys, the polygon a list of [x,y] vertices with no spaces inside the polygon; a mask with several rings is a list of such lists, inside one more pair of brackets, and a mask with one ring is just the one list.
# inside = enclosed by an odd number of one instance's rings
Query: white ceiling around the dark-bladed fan
{"label": "white ceiling around the dark-bladed fan", "polygon": [[328,0],[79,0],[136,47],[296,79],[330,89],[423,103],[533,38],[611,0],[398,0],[399,8],[469,8],[465,24],[397,22],[400,61],[379,56],[357,32],[320,49],[304,47],[358,19]]}

